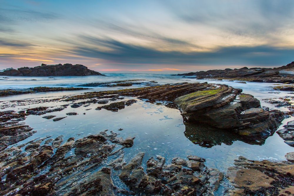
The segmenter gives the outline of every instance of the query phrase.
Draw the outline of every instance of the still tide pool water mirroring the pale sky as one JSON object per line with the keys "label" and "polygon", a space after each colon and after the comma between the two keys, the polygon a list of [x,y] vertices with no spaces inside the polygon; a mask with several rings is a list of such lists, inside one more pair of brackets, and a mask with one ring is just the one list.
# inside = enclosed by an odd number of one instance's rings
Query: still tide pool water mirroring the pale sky
{"label": "still tide pool water mirroring the pale sky", "polygon": [[[64,103],[55,102],[56,104]],[[144,100],[138,100],[137,103],[126,106],[118,112],[95,110],[98,105],[101,104],[91,103],[88,107],[79,108],[68,106],[60,112],[40,116],[29,115],[25,122],[38,132],[18,144],[47,135],[51,135],[53,139],[64,135],[63,139],[66,142],[70,137],[75,137],[77,140],[108,129],[108,133],[113,130],[115,133],[120,133],[119,136],[123,138],[136,136],[133,147],[124,148],[126,162],[138,152],[145,152],[143,165],[150,157],[156,157],[156,155],[161,155],[166,158],[167,162],[170,162],[174,157],[186,158],[186,155],[192,154],[206,158],[207,166],[224,171],[233,165],[233,160],[239,155],[253,160],[284,160],[284,155],[293,151],[293,148],[286,145],[276,133],[266,139],[264,145],[250,145],[239,141],[238,138],[233,138],[231,145],[220,142],[221,145],[205,148],[194,144],[185,136],[186,127],[177,109],[148,103]],[[92,109],[86,110],[90,108]],[[78,115],[67,116],[68,112],[77,112]],[[53,122],[52,119],[42,118],[46,115],[56,115],[55,118],[67,117]],[[123,130],[118,130],[120,128]]]}

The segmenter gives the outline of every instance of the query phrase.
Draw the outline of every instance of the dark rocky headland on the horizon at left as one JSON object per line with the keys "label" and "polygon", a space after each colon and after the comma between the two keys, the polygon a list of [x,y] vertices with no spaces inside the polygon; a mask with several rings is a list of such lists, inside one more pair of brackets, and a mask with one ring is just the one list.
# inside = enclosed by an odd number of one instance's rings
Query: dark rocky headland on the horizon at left
{"label": "dark rocky headland on the horizon at left", "polygon": [[90,76],[103,74],[88,69],[83,65],[72,65],[69,63],[58,65],[43,64],[37,67],[22,67],[16,69],[9,69],[0,72],[0,76]]}

